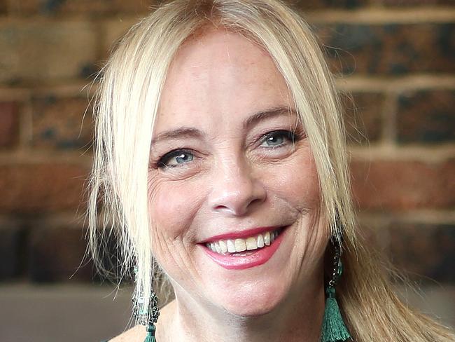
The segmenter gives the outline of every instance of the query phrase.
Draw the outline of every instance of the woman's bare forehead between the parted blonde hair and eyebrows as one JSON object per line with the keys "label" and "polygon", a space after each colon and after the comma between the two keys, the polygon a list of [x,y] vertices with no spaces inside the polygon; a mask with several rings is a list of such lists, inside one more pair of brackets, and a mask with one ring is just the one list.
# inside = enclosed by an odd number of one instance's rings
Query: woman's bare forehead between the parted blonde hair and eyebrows
{"label": "woman's bare forehead between the parted blonde hair and eyebrows", "polygon": [[213,125],[288,105],[286,82],[267,51],[225,29],[189,39],[169,68],[156,130]]}

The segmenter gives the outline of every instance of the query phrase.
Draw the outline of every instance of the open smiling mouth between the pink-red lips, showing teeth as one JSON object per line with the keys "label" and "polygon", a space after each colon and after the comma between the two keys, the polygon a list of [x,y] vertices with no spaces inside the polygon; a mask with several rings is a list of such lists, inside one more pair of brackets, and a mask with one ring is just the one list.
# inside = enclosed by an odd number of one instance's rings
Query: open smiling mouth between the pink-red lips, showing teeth
{"label": "open smiling mouth between the pink-red lips, showing teeth", "polygon": [[262,249],[269,245],[283,231],[283,227],[277,228],[274,231],[266,231],[252,235],[248,238],[226,239],[206,243],[206,247],[212,252],[221,255],[230,255],[232,257],[245,257],[253,254],[258,249]]}

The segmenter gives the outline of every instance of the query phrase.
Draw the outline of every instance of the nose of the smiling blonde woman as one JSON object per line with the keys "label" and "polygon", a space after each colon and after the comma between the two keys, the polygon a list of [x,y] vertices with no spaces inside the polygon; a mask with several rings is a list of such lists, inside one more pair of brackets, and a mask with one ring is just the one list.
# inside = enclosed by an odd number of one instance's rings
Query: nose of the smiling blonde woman
{"label": "nose of the smiling blonde woman", "polygon": [[250,212],[253,206],[262,203],[267,191],[261,179],[254,177],[252,171],[247,161],[242,158],[231,158],[217,163],[211,179],[211,210],[243,216]]}

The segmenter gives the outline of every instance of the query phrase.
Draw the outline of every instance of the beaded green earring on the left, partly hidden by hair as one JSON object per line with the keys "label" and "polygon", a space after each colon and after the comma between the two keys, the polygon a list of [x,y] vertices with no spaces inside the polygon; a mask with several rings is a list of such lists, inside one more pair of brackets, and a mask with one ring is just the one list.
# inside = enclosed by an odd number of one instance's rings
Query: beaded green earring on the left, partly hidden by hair
{"label": "beaded green earring on the left, partly hidden by hair", "polygon": [[[134,275],[136,274],[137,269],[134,269]],[[138,289],[133,301],[133,314],[137,317],[137,322],[146,325],[147,336],[144,342],[157,342],[155,338],[155,323],[158,321],[158,316],[160,316],[160,310],[158,310],[158,297],[152,290],[150,301],[147,305],[144,303],[144,295],[141,289]]]}

